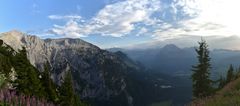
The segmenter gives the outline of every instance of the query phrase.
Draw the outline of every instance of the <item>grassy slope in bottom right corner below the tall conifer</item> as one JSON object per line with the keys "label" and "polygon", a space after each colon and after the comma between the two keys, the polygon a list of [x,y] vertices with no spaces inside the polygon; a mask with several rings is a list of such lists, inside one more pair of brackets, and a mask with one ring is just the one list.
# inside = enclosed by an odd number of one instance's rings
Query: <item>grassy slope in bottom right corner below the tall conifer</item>
{"label": "grassy slope in bottom right corner below the tall conifer", "polygon": [[240,78],[227,84],[214,96],[195,100],[190,106],[240,106]]}

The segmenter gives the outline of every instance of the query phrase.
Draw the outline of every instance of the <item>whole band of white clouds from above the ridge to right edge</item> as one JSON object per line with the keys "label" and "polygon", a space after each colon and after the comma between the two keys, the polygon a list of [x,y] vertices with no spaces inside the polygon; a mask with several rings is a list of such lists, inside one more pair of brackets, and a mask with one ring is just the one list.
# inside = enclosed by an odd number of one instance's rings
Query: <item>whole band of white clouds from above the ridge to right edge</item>
{"label": "whole band of white clouds from above the ridge to right edge", "polygon": [[91,34],[122,37],[151,35],[158,40],[183,36],[238,35],[237,0],[125,0],[106,5],[91,19],[78,15],[50,15],[67,20],[51,34],[84,37]]}

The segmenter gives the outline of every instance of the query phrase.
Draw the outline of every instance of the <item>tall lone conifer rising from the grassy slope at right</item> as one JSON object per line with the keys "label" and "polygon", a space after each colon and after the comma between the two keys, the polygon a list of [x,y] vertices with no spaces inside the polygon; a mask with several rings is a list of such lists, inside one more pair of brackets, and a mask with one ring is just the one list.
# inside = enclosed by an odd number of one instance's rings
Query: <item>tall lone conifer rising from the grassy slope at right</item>
{"label": "tall lone conifer rising from the grassy slope at right", "polygon": [[206,41],[202,39],[198,43],[199,47],[195,49],[198,55],[198,64],[192,67],[193,96],[202,98],[212,93],[212,81],[210,79],[211,64]]}

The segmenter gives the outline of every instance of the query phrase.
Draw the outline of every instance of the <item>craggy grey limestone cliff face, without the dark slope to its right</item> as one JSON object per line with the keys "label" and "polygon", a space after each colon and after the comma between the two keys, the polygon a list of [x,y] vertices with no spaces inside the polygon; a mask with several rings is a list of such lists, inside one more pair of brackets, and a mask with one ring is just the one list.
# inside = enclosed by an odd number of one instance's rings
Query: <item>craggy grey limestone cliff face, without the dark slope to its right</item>
{"label": "craggy grey limestone cliff face, without the dark slope to its right", "polygon": [[124,75],[131,67],[114,53],[81,39],[40,39],[19,31],[2,33],[0,39],[15,50],[26,47],[30,62],[39,70],[49,61],[51,77],[59,85],[70,70],[75,89],[82,98],[108,100],[121,93],[128,95]]}

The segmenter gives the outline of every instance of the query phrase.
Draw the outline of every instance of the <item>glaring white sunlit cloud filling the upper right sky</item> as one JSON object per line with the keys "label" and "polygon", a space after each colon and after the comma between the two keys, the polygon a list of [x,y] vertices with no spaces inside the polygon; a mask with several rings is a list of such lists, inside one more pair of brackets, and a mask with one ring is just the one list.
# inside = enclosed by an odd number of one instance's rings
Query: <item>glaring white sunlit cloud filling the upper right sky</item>
{"label": "glaring white sunlit cloud filling the upper right sky", "polygon": [[239,36],[239,3],[238,0],[175,0],[174,13],[188,18],[177,20],[175,27],[166,30],[159,27],[155,37],[164,40],[182,36]]}

